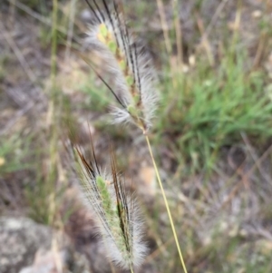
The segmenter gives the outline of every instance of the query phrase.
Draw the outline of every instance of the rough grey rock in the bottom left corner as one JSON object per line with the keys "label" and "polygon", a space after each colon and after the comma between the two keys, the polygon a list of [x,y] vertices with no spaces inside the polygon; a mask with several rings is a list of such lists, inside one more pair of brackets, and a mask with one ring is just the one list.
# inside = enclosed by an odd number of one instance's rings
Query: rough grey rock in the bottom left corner
{"label": "rough grey rock in the bottom left corner", "polygon": [[0,218],[0,246],[0,273],[90,272],[66,236],[31,219]]}

